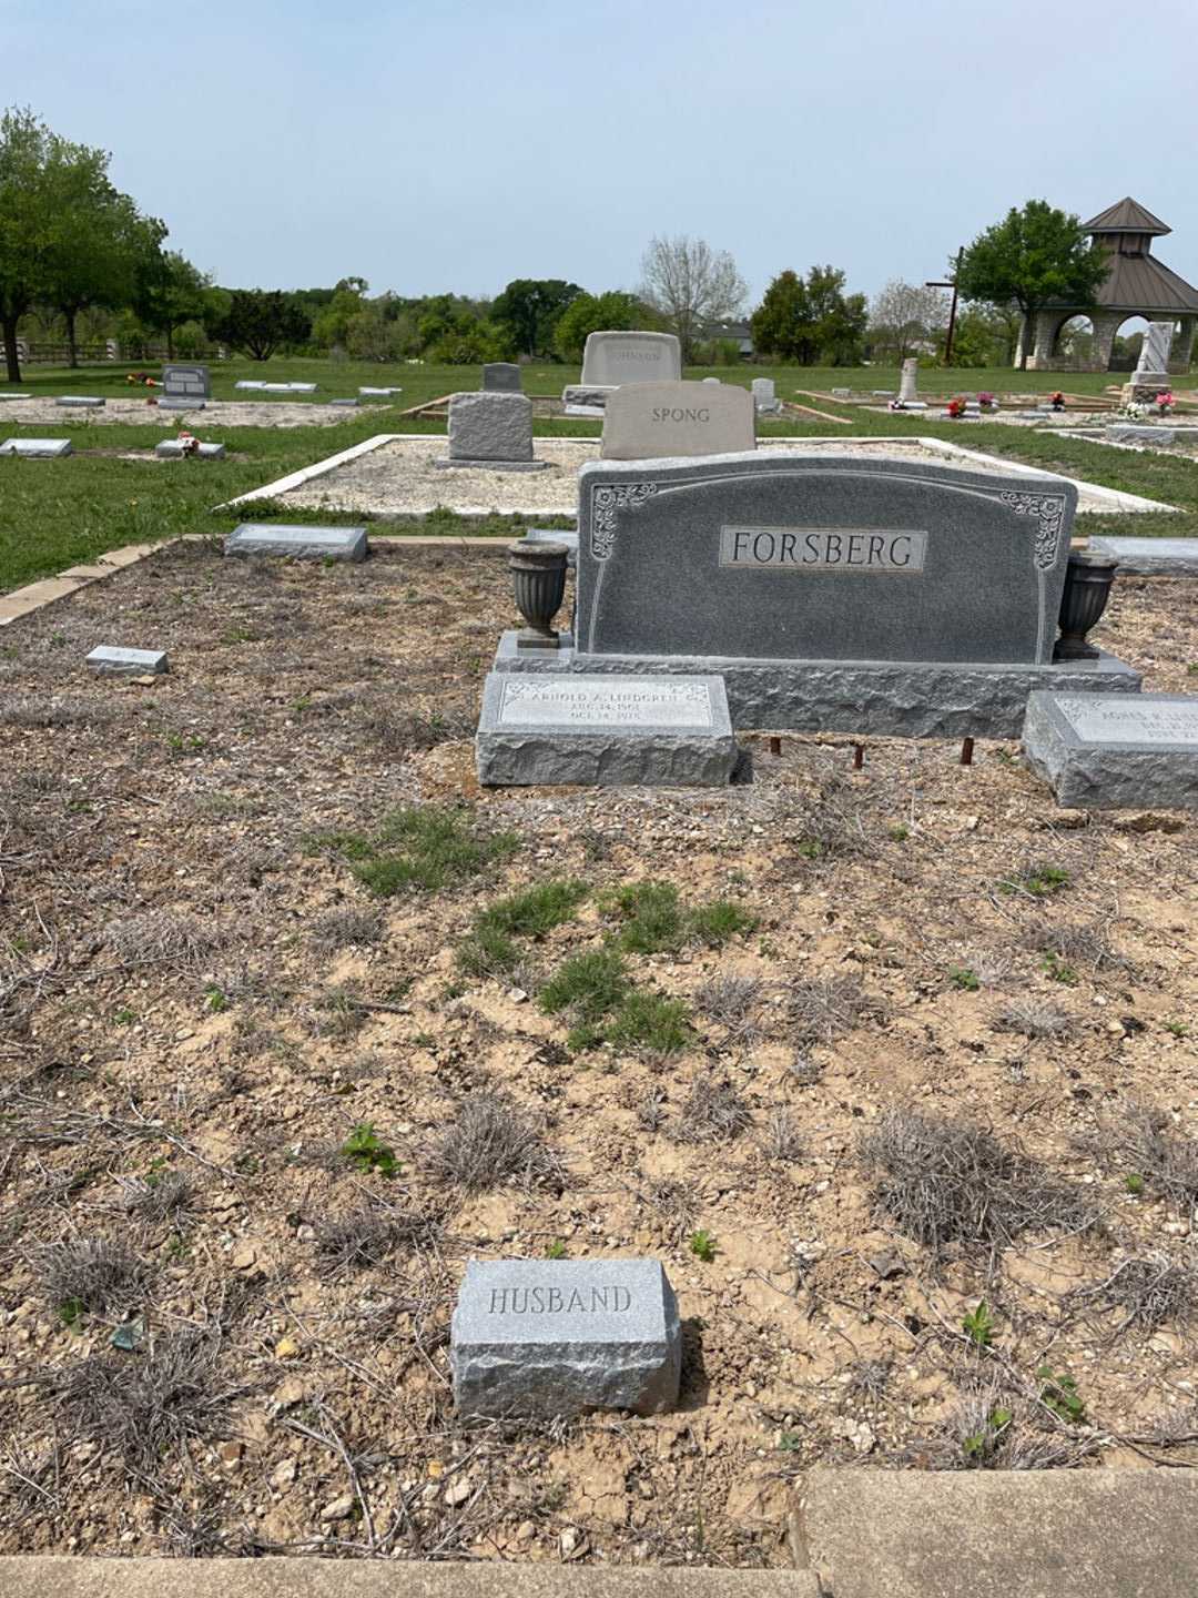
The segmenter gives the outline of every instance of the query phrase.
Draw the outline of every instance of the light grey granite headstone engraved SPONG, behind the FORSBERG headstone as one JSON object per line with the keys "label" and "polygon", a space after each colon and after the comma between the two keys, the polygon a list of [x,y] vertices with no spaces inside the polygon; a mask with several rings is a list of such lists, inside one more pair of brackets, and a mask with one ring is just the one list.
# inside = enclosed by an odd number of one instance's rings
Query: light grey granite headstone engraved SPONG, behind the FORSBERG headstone
{"label": "light grey granite headstone engraved SPONG, behind the FORSBERG headstone", "polygon": [[756,449],[752,396],[719,384],[625,384],[604,409],[605,460]]}

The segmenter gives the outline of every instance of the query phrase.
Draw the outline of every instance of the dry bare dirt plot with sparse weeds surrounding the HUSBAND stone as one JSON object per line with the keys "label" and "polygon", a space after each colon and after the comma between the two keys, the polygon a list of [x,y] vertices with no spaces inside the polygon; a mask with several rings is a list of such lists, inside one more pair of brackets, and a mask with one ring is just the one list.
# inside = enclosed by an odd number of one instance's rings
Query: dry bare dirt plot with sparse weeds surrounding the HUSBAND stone
{"label": "dry bare dirt plot with sparse weeds surrounding the HUSBAND stone", "polygon": [[[481,794],[505,590],[187,545],[5,630],[0,1552],[779,1564],[816,1461],[1198,1462],[1195,820],[839,737]],[[1102,642],[1192,684],[1198,586]],[[664,1262],[677,1413],[455,1416],[466,1258],[546,1253]]]}

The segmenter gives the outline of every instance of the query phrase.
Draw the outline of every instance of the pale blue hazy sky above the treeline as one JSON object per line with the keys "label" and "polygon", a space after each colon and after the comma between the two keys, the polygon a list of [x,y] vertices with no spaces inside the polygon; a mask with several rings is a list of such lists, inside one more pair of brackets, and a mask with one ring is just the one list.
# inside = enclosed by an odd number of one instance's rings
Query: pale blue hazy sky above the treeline
{"label": "pale blue hazy sky above the treeline", "polygon": [[1196,46],[1196,0],[0,0],[0,96],[228,286],[631,288],[692,233],[874,292],[1125,193],[1195,281]]}

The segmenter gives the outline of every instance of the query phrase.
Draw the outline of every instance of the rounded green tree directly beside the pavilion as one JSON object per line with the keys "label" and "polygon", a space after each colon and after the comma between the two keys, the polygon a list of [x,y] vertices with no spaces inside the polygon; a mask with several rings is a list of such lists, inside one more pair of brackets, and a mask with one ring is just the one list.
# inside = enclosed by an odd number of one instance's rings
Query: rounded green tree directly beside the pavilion
{"label": "rounded green tree directly beside the pavilion", "polygon": [[965,299],[990,305],[1018,305],[1024,320],[1021,366],[1027,366],[1035,313],[1053,300],[1083,308],[1094,304],[1110,262],[1088,240],[1077,216],[1057,211],[1046,200],[1014,206],[1002,222],[987,227],[966,248],[957,270],[957,289]]}

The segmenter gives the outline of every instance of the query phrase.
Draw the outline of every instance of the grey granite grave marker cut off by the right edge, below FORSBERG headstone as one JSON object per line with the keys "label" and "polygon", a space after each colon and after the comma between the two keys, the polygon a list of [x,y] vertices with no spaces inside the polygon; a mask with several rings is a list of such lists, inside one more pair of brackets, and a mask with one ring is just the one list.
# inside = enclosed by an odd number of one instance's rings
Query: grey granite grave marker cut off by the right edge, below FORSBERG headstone
{"label": "grey granite grave marker cut off by the right edge, below FORSBERG headstone", "polygon": [[1070,809],[1198,810],[1198,695],[1032,694],[1024,753]]}

